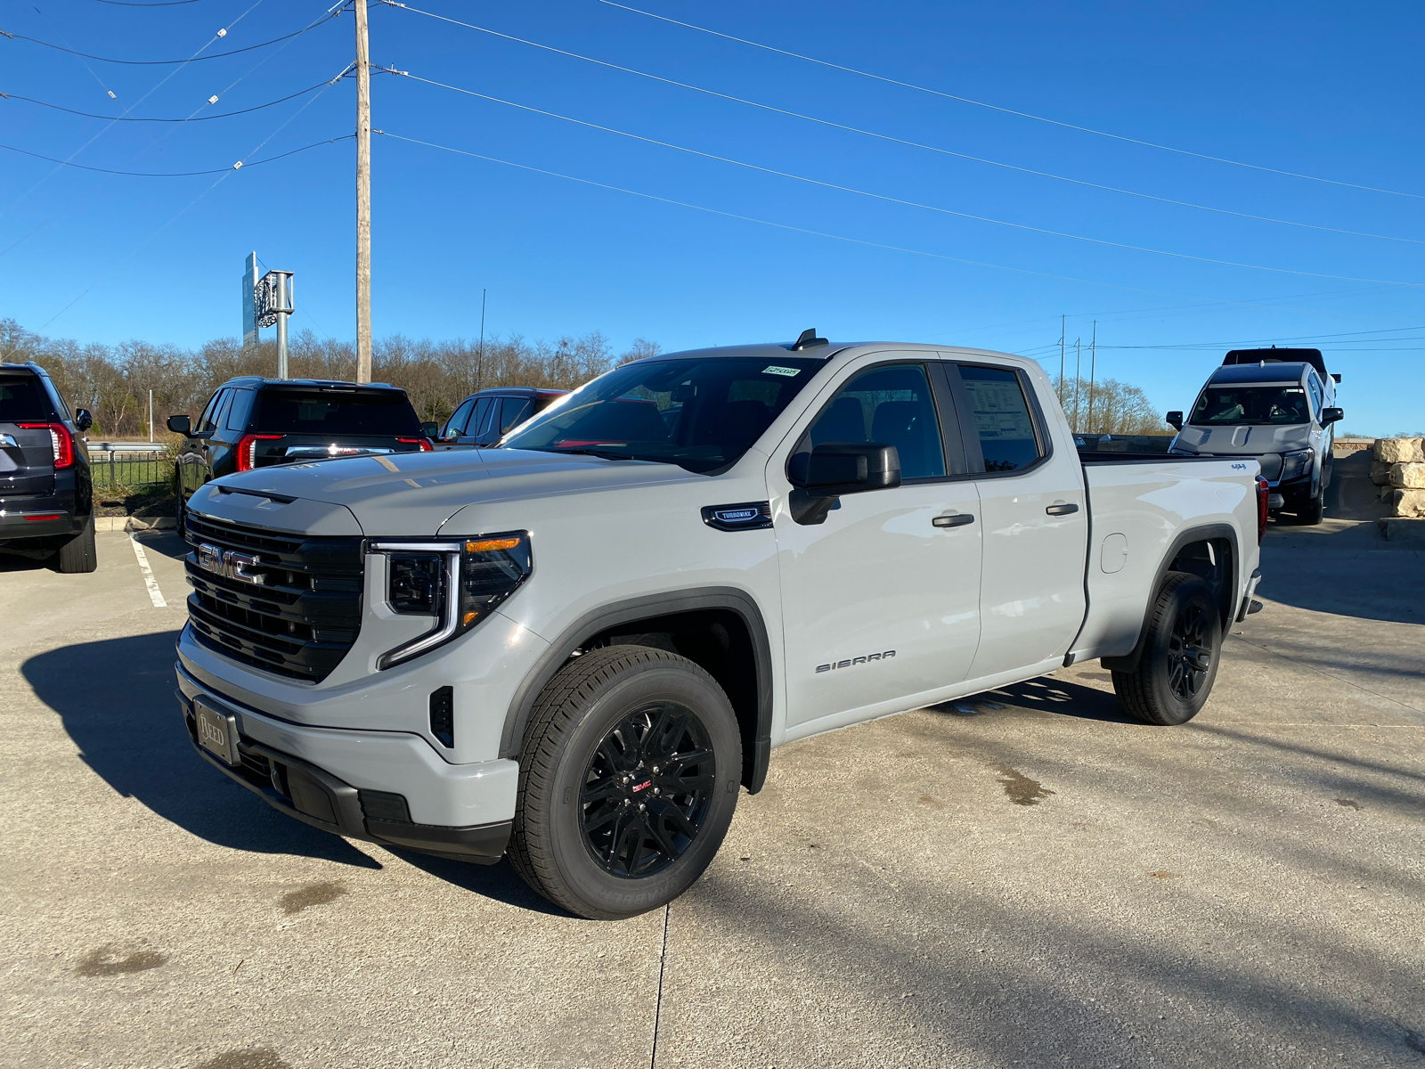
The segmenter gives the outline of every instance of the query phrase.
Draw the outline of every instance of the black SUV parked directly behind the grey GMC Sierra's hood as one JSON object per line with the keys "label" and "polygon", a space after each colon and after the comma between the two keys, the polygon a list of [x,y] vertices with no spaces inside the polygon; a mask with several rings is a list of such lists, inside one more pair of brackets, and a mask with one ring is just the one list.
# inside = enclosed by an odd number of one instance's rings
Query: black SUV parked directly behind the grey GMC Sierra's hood
{"label": "black SUV parked directly behind the grey GMC Sierra's hood", "polygon": [[430,452],[435,423],[422,423],[406,391],[383,382],[321,379],[229,379],[194,423],[168,416],[184,436],[174,465],[174,493],[182,515],[209,479],[295,460]]}

